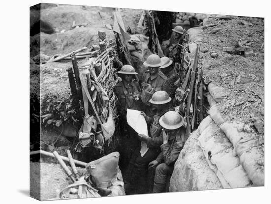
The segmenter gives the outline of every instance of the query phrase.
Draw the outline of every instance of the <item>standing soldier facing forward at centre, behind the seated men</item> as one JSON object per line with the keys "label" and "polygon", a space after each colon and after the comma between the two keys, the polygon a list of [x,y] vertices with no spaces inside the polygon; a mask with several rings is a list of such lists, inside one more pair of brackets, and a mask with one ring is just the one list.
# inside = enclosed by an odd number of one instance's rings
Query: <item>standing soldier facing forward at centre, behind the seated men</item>
{"label": "standing soldier facing forward at centre, behind the seated men", "polygon": [[149,70],[143,74],[141,99],[145,105],[146,114],[151,117],[155,113],[154,107],[151,107],[149,102],[153,93],[166,91],[169,94],[170,85],[167,76],[159,71],[162,61],[158,55],[150,55],[143,64],[148,66]]}

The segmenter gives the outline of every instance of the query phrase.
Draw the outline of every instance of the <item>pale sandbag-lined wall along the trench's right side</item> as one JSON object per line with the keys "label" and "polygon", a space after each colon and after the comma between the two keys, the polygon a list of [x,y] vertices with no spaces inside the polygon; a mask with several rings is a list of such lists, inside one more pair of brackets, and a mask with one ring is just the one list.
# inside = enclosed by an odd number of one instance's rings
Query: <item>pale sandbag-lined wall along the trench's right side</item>
{"label": "pale sandbag-lined wall along the trench's right side", "polygon": [[[192,28],[188,33],[193,64],[197,43],[204,43],[203,30]],[[186,141],[175,163],[170,192],[264,185],[264,169],[259,165],[264,156],[257,149],[256,138],[240,124],[226,121],[219,111],[226,91],[212,82],[208,85],[209,116]]]}

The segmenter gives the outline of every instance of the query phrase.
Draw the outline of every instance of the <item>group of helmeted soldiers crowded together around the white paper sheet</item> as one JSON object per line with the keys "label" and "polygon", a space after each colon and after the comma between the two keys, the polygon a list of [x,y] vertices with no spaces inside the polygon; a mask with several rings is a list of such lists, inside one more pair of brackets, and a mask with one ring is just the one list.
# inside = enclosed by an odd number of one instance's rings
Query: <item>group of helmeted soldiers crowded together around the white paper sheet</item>
{"label": "group of helmeted soldiers crowded together around the white paper sheet", "polygon": [[[183,32],[178,34],[180,37]],[[148,70],[143,74],[141,86],[135,79],[137,73],[131,65],[124,65],[118,71],[122,80],[115,86],[123,129],[138,141],[127,144],[135,147],[124,172],[125,190],[131,194],[167,191],[174,163],[185,142],[184,118],[174,109],[174,83],[178,74],[172,60],[152,54],[143,64]],[[149,136],[137,134],[127,125],[127,109],[141,111]],[[145,142],[149,148],[143,156],[140,154],[140,141]],[[147,192],[140,192],[140,186],[136,184],[139,179],[145,180]]]}

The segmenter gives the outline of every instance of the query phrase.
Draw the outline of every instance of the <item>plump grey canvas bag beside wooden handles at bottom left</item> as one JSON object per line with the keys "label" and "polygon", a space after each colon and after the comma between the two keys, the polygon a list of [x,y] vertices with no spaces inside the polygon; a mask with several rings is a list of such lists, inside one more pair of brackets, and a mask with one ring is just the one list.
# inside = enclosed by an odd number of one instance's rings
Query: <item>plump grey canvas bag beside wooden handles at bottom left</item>
{"label": "plump grey canvas bag beside wooden handles at bottom left", "polygon": [[119,153],[112,152],[87,164],[91,181],[97,187],[108,188],[117,182]]}

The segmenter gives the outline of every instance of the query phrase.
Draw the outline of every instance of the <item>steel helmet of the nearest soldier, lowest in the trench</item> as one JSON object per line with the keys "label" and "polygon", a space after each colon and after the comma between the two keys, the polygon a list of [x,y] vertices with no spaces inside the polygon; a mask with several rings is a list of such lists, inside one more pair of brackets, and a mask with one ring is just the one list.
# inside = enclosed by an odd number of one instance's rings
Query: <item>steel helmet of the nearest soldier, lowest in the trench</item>
{"label": "steel helmet of the nearest soldier, lowest in the trench", "polygon": [[169,111],[160,117],[159,124],[168,130],[175,130],[182,127],[184,118],[175,111]]}

